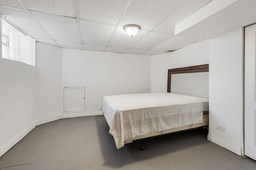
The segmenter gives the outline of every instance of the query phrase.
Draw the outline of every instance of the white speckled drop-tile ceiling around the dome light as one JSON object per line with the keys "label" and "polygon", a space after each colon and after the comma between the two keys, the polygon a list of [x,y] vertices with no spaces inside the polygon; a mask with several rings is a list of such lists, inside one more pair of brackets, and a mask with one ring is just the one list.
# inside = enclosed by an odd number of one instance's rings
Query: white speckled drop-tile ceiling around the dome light
{"label": "white speckled drop-tile ceiling around the dome light", "polygon": [[[156,55],[202,41],[174,36],[177,23],[211,0],[0,0],[0,15],[62,48]],[[136,24],[130,37],[124,26]]]}

